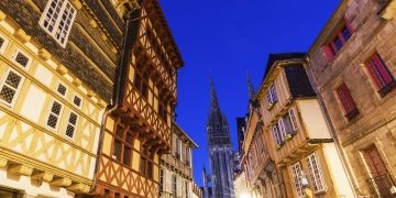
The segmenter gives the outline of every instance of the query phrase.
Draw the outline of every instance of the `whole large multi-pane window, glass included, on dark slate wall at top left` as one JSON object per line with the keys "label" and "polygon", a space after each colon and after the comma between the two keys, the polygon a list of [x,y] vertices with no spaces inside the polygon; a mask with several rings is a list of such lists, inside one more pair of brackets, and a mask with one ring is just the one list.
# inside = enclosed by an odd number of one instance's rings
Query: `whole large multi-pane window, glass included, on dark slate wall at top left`
{"label": "whole large multi-pane window, glass included, on dark slate wall at top left", "polygon": [[40,25],[65,47],[76,13],[68,0],[48,0]]}

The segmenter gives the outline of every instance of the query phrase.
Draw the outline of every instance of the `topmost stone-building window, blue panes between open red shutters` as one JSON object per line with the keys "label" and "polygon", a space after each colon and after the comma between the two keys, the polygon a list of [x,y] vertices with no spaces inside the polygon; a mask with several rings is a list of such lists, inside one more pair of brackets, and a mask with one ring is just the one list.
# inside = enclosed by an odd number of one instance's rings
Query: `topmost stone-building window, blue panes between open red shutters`
{"label": "topmost stone-building window, blue panes between open red shutters", "polygon": [[352,28],[346,19],[340,25],[340,29],[334,33],[331,41],[323,46],[323,51],[328,61],[331,61],[334,55],[343,47],[346,41],[352,36]]}

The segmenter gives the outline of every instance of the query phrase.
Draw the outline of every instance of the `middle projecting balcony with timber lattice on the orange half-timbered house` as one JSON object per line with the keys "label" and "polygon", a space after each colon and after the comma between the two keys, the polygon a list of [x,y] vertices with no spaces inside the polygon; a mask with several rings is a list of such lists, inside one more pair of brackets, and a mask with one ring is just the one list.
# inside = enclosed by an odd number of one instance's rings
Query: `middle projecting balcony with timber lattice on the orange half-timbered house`
{"label": "middle projecting balcony with timber lattice on the orange half-timbered house", "polygon": [[129,123],[139,136],[145,139],[158,153],[170,153],[170,127],[160,117],[131,80],[127,82],[123,106],[116,114]]}

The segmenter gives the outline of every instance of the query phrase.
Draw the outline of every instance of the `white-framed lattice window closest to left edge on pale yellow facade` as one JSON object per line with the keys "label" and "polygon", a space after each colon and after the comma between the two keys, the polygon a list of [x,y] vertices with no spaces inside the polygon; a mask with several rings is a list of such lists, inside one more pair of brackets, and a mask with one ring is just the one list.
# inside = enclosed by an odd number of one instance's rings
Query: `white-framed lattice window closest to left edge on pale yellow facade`
{"label": "white-framed lattice window closest to left edge on pale yellow facade", "polygon": [[0,84],[0,101],[12,107],[22,87],[24,78],[15,70],[9,68]]}

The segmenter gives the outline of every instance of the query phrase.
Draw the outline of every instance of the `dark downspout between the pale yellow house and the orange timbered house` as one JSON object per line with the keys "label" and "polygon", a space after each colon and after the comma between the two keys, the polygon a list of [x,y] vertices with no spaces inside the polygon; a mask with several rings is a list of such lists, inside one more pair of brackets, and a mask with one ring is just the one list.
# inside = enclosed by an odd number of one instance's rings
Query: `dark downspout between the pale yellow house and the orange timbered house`
{"label": "dark downspout between the pale yellow house and the orange timbered house", "polygon": [[[141,2],[139,2],[140,4]],[[99,169],[99,160],[100,156],[102,155],[102,141],[103,141],[103,136],[105,136],[105,130],[106,130],[106,121],[107,118],[114,111],[117,110],[120,106],[122,106],[122,103],[120,103],[120,101],[122,101],[123,98],[123,90],[124,90],[124,81],[127,78],[127,72],[128,72],[128,66],[130,64],[130,55],[132,53],[132,45],[136,40],[136,33],[138,33],[138,29],[139,29],[139,20],[140,18],[140,8],[133,9],[131,11],[129,11],[125,16],[125,26],[124,26],[124,36],[122,40],[122,46],[121,46],[121,56],[118,63],[118,67],[116,70],[116,79],[114,79],[114,89],[113,89],[113,95],[112,95],[112,99],[110,101],[110,105],[106,108],[106,111],[102,116],[102,122],[101,122],[101,128],[100,128],[100,136],[99,136],[99,146],[97,150],[97,158],[96,158],[96,165],[95,165],[95,172],[94,172],[94,182],[92,185],[89,189],[88,194],[92,194],[96,190],[97,187],[97,177],[98,177],[98,169]],[[135,22],[133,24],[133,22]]]}

